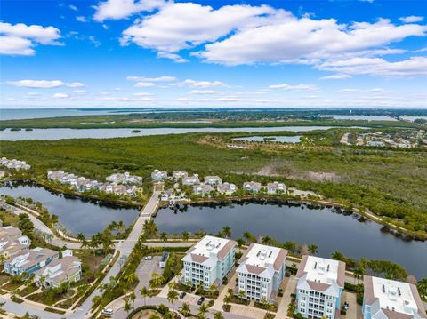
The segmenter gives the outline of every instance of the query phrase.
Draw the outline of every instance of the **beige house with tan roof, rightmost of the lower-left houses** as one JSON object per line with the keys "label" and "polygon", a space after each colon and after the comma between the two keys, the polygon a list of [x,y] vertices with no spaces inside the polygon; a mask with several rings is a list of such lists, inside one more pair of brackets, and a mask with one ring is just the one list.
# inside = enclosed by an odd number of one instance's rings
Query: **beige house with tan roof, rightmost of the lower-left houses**
{"label": "beige house with tan roof, rightmost of the lower-left houses", "polygon": [[35,282],[45,288],[58,288],[62,283],[75,283],[82,278],[82,262],[74,256],[63,256],[36,271]]}

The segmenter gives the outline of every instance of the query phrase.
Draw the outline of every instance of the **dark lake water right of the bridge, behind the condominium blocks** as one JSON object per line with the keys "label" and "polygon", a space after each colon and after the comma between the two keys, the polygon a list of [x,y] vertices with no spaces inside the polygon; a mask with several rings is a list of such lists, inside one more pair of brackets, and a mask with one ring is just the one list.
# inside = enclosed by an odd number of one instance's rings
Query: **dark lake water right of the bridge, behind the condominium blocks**
{"label": "dark lake water right of the bridge, behind the condominium blocks", "polygon": [[247,230],[257,236],[270,235],[280,242],[316,243],[321,257],[329,258],[332,252],[341,251],[352,258],[391,260],[409,274],[427,276],[427,243],[383,233],[373,221],[359,221],[359,215],[345,216],[332,208],[272,203],[189,205],[184,212],[160,209],[155,221],[160,231],[169,234],[196,232],[200,228],[216,234],[227,225],[233,238]]}

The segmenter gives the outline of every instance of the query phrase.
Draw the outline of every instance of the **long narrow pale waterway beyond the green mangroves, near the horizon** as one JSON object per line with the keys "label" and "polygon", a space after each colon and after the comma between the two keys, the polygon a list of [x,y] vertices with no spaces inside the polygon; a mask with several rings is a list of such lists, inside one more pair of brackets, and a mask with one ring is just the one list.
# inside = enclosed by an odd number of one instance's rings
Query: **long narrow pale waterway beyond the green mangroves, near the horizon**
{"label": "long narrow pale waterway beyond the green mangroves, near the horizon", "polygon": [[283,126],[283,127],[239,127],[239,128],[155,128],[138,129],[141,132],[133,133],[133,129],[34,129],[33,131],[0,131],[0,140],[62,140],[62,139],[111,139],[128,138],[131,136],[183,134],[191,132],[310,132],[315,130],[329,130],[333,126]]}

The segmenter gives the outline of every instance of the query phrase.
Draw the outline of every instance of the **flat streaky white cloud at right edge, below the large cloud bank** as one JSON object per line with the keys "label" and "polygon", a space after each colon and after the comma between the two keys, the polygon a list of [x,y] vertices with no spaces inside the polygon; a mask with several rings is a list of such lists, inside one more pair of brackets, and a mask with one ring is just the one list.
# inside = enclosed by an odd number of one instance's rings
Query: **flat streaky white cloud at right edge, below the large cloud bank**
{"label": "flat streaky white cloud at right edge, below the large cloud bank", "polygon": [[412,57],[394,62],[380,58],[329,60],[319,64],[317,68],[350,75],[425,76],[427,75],[427,57]]}

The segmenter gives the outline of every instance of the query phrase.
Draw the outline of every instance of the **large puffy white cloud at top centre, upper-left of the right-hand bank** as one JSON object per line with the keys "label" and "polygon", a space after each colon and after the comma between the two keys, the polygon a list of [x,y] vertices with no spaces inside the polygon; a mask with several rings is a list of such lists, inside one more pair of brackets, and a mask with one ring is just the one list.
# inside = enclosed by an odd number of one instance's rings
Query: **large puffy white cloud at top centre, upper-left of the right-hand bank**
{"label": "large puffy white cloud at top centre, upper-left of the right-hand bank", "polygon": [[133,42],[156,50],[158,57],[183,62],[176,52],[215,41],[235,29],[261,25],[271,18],[264,15],[278,12],[284,13],[266,5],[226,5],[214,10],[201,4],[170,3],[135,21],[123,32],[122,44]]}

